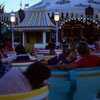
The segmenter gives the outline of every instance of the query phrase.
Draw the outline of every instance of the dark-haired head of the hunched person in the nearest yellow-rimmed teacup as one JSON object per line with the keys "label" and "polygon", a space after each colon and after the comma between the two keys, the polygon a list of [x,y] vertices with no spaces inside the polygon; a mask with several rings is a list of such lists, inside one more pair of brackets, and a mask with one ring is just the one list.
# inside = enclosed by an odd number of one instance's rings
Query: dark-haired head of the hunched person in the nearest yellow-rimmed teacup
{"label": "dark-haired head of the hunched person in the nearest yellow-rimmed teacup", "polygon": [[32,88],[40,88],[44,80],[50,77],[50,69],[40,63],[36,62],[31,65],[29,65],[26,72],[24,72],[24,75],[29,80],[29,83],[31,84]]}

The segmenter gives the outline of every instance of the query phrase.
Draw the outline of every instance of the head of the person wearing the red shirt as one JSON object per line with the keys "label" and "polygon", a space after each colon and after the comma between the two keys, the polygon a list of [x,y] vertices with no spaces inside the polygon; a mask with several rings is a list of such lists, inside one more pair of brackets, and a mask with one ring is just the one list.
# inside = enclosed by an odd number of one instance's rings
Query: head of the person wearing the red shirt
{"label": "head of the person wearing the red shirt", "polygon": [[89,47],[86,41],[80,41],[77,46],[79,55],[89,54]]}

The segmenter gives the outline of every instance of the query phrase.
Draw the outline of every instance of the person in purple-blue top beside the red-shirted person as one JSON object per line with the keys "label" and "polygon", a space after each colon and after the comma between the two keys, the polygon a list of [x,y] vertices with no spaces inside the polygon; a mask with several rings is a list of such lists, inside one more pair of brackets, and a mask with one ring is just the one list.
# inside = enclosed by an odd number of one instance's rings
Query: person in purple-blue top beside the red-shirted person
{"label": "person in purple-blue top beside the red-shirted person", "polygon": [[75,59],[76,53],[74,52],[74,50],[64,47],[62,54],[50,58],[49,60],[42,61],[42,63],[48,65],[69,64],[73,62]]}

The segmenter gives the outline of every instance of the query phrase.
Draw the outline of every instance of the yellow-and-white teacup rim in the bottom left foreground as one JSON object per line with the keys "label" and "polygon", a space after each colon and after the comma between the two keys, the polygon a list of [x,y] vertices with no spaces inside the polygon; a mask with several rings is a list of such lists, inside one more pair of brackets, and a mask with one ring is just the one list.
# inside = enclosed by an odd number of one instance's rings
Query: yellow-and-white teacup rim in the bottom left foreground
{"label": "yellow-and-white teacup rim in the bottom left foreground", "polygon": [[29,92],[15,93],[9,95],[0,95],[0,100],[48,100],[48,86]]}

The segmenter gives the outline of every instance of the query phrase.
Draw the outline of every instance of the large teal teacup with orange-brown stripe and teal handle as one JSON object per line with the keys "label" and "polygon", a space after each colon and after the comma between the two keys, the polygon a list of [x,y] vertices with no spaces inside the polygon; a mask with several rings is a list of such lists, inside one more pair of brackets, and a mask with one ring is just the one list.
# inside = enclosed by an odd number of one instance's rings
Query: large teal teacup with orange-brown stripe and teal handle
{"label": "large teal teacup with orange-brown stripe and teal handle", "polygon": [[49,100],[94,100],[100,89],[100,67],[51,69],[48,82]]}

